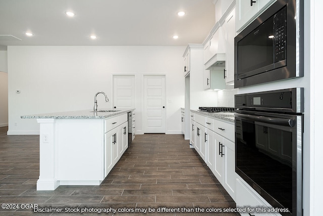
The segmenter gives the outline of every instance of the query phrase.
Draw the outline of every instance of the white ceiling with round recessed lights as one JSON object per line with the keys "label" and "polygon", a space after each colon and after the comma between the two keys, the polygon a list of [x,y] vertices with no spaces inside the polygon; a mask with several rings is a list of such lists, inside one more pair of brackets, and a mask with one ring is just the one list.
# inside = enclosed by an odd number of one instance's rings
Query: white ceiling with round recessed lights
{"label": "white ceiling with round recessed lights", "polygon": [[0,0],[0,47],[201,44],[216,23],[213,1]]}

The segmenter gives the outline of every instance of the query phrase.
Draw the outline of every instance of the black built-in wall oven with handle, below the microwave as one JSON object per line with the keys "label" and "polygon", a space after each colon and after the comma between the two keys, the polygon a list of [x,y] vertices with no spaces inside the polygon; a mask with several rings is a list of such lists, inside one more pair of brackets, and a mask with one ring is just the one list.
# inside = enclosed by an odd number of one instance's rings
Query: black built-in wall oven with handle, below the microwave
{"label": "black built-in wall oven with handle, below the microwave", "polygon": [[302,215],[303,89],[235,96],[236,172],[273,207]]}

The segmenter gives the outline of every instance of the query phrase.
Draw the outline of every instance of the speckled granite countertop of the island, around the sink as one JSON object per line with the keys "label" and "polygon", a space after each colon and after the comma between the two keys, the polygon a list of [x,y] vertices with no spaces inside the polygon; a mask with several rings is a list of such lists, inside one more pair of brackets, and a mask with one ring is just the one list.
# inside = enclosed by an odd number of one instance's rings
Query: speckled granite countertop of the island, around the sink
{"label": "speckled granite countertop of the island, around the sink", "polygon": [[[113,110],[113,109],[104,109]],[[21,118],[66,118],[66,119],[84,119],[84,118],[109,118],[116,115],[121,115],[135,109],[117,109],[114,112],[93,112],[93,110],[77,110],[68,112],[45,113],[35,115],[23,115]]]}

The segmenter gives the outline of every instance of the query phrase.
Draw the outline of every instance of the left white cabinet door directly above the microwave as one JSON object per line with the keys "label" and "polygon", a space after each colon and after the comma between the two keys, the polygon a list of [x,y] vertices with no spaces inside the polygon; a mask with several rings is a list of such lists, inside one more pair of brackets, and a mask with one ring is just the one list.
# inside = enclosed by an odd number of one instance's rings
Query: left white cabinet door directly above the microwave
{"label": "left white cabinet door directly above the microwave", "polygon": [[236,1],[236,31],[241,31],[244,26],[246,26],[249,21],[256,16],[259,11],[258,0],[254,1],[252,4],[250,0],[237,0]]}

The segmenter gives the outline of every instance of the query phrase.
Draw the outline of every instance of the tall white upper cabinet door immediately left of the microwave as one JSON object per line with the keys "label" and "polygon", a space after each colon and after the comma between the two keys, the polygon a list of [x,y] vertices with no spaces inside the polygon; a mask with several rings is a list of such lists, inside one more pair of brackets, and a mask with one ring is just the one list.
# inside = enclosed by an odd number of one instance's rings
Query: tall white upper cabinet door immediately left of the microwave
{"label": "tall white upper cabinet door immediately left of the microwave", "polygon": [[236,36],[236,10],[233,9],[225,23],[224,39],[226,47],[226,83],[234,81],[234,37]]}

